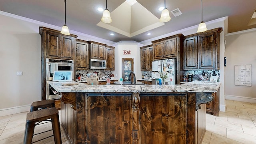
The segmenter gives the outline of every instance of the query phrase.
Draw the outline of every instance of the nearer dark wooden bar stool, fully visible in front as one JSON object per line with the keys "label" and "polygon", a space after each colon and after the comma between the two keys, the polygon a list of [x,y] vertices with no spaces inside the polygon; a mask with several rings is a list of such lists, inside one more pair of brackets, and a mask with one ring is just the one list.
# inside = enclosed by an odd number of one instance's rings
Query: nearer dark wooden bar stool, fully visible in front
{"label": "nearer dark wooden bar stool, fully visible in front", "polygon": [[[60,121],[59,121],[59,114],[58,110],[54,108],[46,108],[42,110],[36,110],[33,112],[29,112],[27,114],[27,119],[26,119],[26,126],[25,126],[25,132],[24,132],[24,140],[23,144],[31,144],[32,143],[32,138],[34,135],[34,128],[36,125],[36,122],[40,122],[43,120],[51,119],[52,122],[52,131],[54,136],[54,142],[55,144],[61,144],[61,134],[60,134]],[[50,131],[50,130],[48,130]],[[46,132],[48,132],[46,131]],[[40,132],[38,134],[42,134],[44,132]],[[49,138],[51,136],[48,136],[46,138]],[[46,138],[42,138],[40,140],[44,140]],[[40,140],[37,140],[35,142],[38,142]],[[33,142],[34,143],[34,142]]]}

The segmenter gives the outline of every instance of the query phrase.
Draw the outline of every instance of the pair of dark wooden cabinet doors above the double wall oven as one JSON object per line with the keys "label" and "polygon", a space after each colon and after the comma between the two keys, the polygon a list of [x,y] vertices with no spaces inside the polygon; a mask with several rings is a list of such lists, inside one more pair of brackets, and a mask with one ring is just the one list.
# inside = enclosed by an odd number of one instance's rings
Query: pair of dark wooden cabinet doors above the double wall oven
{"label": "pair of dark wooden cabinet doors above the double wall oven", "polygon": [[74,59],[75,38],[46,32],[46,58]]}

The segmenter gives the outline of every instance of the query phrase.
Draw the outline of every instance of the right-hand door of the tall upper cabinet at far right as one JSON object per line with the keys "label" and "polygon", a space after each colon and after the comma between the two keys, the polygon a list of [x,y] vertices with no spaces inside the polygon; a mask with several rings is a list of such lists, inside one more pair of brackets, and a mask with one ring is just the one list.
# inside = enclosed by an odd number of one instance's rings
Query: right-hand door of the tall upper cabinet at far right
{"label": "right-hand door of the tall upper cabinet at far right", "polygon": [[199,36],[199,68],[215,68],[215,33]]}

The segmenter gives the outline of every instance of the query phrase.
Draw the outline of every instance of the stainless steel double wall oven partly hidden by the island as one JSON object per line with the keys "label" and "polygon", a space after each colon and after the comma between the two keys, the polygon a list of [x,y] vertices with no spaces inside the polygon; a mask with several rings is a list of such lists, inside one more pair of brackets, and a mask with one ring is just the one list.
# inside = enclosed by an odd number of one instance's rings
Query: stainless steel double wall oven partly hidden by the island
{"label": "stainless steel double wall oven partly hidden by the island", "polygon": [[[74,71],[74,60],[62,60],[46,58],[46,100],[58,99],[60,95],[48,84],[52,81],[53,73],[55,70],[72,70]],[[72,80],[74,80],[74,75],[72,75]]]}

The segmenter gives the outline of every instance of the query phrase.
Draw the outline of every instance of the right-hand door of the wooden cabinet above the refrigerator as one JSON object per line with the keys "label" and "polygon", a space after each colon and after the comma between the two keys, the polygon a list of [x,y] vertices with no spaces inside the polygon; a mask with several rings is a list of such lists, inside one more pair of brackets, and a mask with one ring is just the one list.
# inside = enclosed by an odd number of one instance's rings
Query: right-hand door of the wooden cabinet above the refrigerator
{"label": "right-hand door of the wooden cabinet above the refrigerator", "polygon": [[170,40],[165,40],[164,57],[174,57],[177,56],[177,38],[171,38]]}

